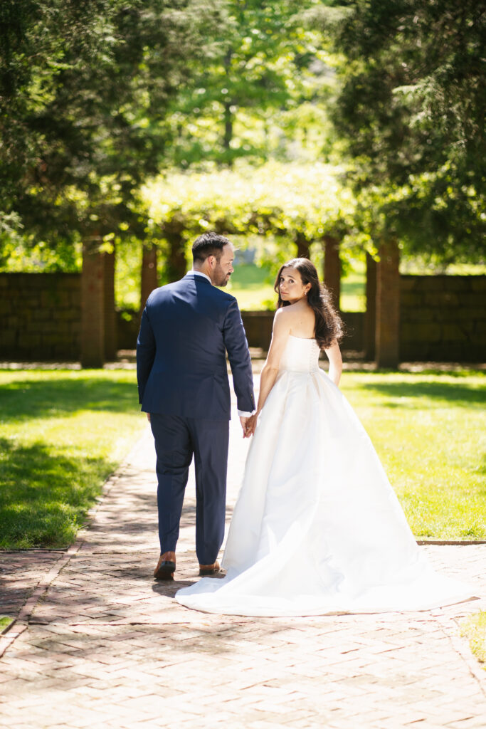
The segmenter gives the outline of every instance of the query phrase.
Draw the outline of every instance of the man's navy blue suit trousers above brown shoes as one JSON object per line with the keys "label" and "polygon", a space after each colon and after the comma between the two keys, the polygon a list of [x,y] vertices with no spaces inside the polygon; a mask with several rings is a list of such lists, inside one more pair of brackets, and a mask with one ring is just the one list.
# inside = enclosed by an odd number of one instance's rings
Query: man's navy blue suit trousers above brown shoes
{"label": "man's navy blue suit trousers above brown shoes", "polygon": [[196,554],[213,564],[224,538],[230,423],[151,413],[157,453],[160,554],[175,552],[192,455],[196,475]]}

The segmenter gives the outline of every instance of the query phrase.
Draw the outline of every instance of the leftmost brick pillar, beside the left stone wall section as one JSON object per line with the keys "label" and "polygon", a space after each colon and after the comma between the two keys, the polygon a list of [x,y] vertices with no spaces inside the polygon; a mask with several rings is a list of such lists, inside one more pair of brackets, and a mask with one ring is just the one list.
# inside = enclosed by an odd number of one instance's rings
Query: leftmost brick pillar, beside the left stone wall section
{"label": "leftmost brick pillar, beside the left stone wall section", "polygon": [[83,243],[81,276],[81,364],[103,367],[105,359],[105,261],[101,238]]}

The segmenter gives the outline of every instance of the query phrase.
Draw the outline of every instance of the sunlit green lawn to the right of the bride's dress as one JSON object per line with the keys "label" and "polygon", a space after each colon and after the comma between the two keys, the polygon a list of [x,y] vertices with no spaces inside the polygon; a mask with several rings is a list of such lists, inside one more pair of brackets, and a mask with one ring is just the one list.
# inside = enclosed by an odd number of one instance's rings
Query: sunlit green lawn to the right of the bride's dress
{"label": "sunlit green lawn to the right of the bride's dress", "polygon": [[486,539],[486,376],[345,373],[358,413],[423,539]]}

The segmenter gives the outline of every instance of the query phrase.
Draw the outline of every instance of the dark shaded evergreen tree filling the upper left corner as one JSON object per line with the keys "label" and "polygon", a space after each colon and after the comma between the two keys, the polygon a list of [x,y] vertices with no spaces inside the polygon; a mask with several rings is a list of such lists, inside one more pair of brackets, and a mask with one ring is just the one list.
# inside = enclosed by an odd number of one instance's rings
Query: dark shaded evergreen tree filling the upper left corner
{"label": "dark shaded evergreen tree filling the upper left corner", "polygon": [[165,154],[168,104],[217,0],[4,0],[4,214],[55,241],[144,233],[136,191]]}

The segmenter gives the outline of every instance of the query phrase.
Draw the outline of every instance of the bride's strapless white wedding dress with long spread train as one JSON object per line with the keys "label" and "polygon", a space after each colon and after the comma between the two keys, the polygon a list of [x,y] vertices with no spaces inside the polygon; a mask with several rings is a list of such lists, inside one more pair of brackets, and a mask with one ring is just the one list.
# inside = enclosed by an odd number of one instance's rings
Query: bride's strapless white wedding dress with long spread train
{"label": "bride's strapless white wedding dress with long spread train", "polygon": [[375,448],[318,356],[314,339],[289,337],[248,451],[227,575],[176,600],[204,612],[287,616],[471,598],[417,546]]}

